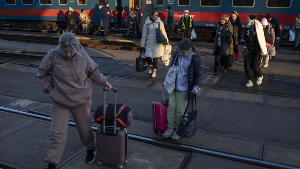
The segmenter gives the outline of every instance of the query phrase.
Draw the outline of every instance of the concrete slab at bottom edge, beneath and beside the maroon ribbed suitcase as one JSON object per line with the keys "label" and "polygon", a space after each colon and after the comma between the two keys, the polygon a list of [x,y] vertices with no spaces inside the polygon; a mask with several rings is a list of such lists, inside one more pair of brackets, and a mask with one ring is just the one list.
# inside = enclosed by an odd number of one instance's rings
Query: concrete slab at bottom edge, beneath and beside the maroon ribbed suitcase
{"label": "concrete slab at bottom edge, beneath and beside the maroon ribbed suitcase", "polygon": [[[128,141],[128,162],[124,164],[124,168],[142,169],[142,168],[179,168],[190,153],[166,149],[159,146],[150,145],[136,141]],[[113,169],[111,166],[102,163],[97,164],[97,159],[92,164],[85,164],[85,152],[76,156],[72,161],[65,164],[61,168],[64,169]]]}

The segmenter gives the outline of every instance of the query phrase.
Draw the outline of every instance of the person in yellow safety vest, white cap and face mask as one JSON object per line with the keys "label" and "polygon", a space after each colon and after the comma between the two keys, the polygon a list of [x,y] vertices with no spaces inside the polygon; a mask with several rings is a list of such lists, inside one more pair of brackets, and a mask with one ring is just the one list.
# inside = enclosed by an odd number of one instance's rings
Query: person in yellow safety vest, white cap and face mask
{"label": "person in yellow safety vest, white cap and face mask", "polygon": [[189,15],[188,10],[184,10],[184,15],[181,17],[181,20],[179,21],[178,24],[178,30],[180,29],[183,30],[184,33],[184,38],[190,38],[190,33],[194,29],[194,23],[192,17]]}

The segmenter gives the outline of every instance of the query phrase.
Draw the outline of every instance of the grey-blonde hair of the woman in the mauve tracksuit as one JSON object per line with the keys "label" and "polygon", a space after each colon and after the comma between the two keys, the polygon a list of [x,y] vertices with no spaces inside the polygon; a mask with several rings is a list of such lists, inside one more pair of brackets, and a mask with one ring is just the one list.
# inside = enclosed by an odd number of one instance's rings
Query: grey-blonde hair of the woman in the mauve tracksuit
{"label": "grey-blonde hair of the woman in the mauve tracksuit", "polygon": [[76,54],[78,54],[80,57],[82,57],[82,55],[79,53],[80,51],[80,42],[78,41],[78,39],[75,37],[75,35],[71,32],[64,32],[58,40],[58,45],[61,48],[67,48],[70,47],[72,48],[74,51],[76,51]]}

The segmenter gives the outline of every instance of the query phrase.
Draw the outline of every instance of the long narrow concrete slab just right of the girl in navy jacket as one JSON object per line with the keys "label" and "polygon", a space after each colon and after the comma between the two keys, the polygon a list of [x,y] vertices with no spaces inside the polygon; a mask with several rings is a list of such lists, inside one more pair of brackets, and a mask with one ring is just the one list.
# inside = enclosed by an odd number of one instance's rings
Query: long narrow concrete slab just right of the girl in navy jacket
{"label": "long narrow concrete slab just right of the girl in navy jacket", "polygon": [[253,93],[244,93],[244,92],[236,92],[236,91],[217,90],[217,89],[208,89],[207,93],[205,94],[205,97],[248,101],[248,102],[255,102],[255,103],[262,103],[264,99],[263,94],[253,94]]}

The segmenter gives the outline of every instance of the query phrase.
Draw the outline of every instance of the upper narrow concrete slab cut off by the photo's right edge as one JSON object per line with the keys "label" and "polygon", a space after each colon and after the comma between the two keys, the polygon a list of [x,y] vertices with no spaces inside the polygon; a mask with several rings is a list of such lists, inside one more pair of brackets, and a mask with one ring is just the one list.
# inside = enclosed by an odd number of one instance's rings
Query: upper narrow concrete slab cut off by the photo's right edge
{"label": "upper narrow concrete slab cut off by the photo's right edge", "polygon": [[300,99],[296,98],[268,96],[266,102],[268,105],[286,106],[300,109]]}

